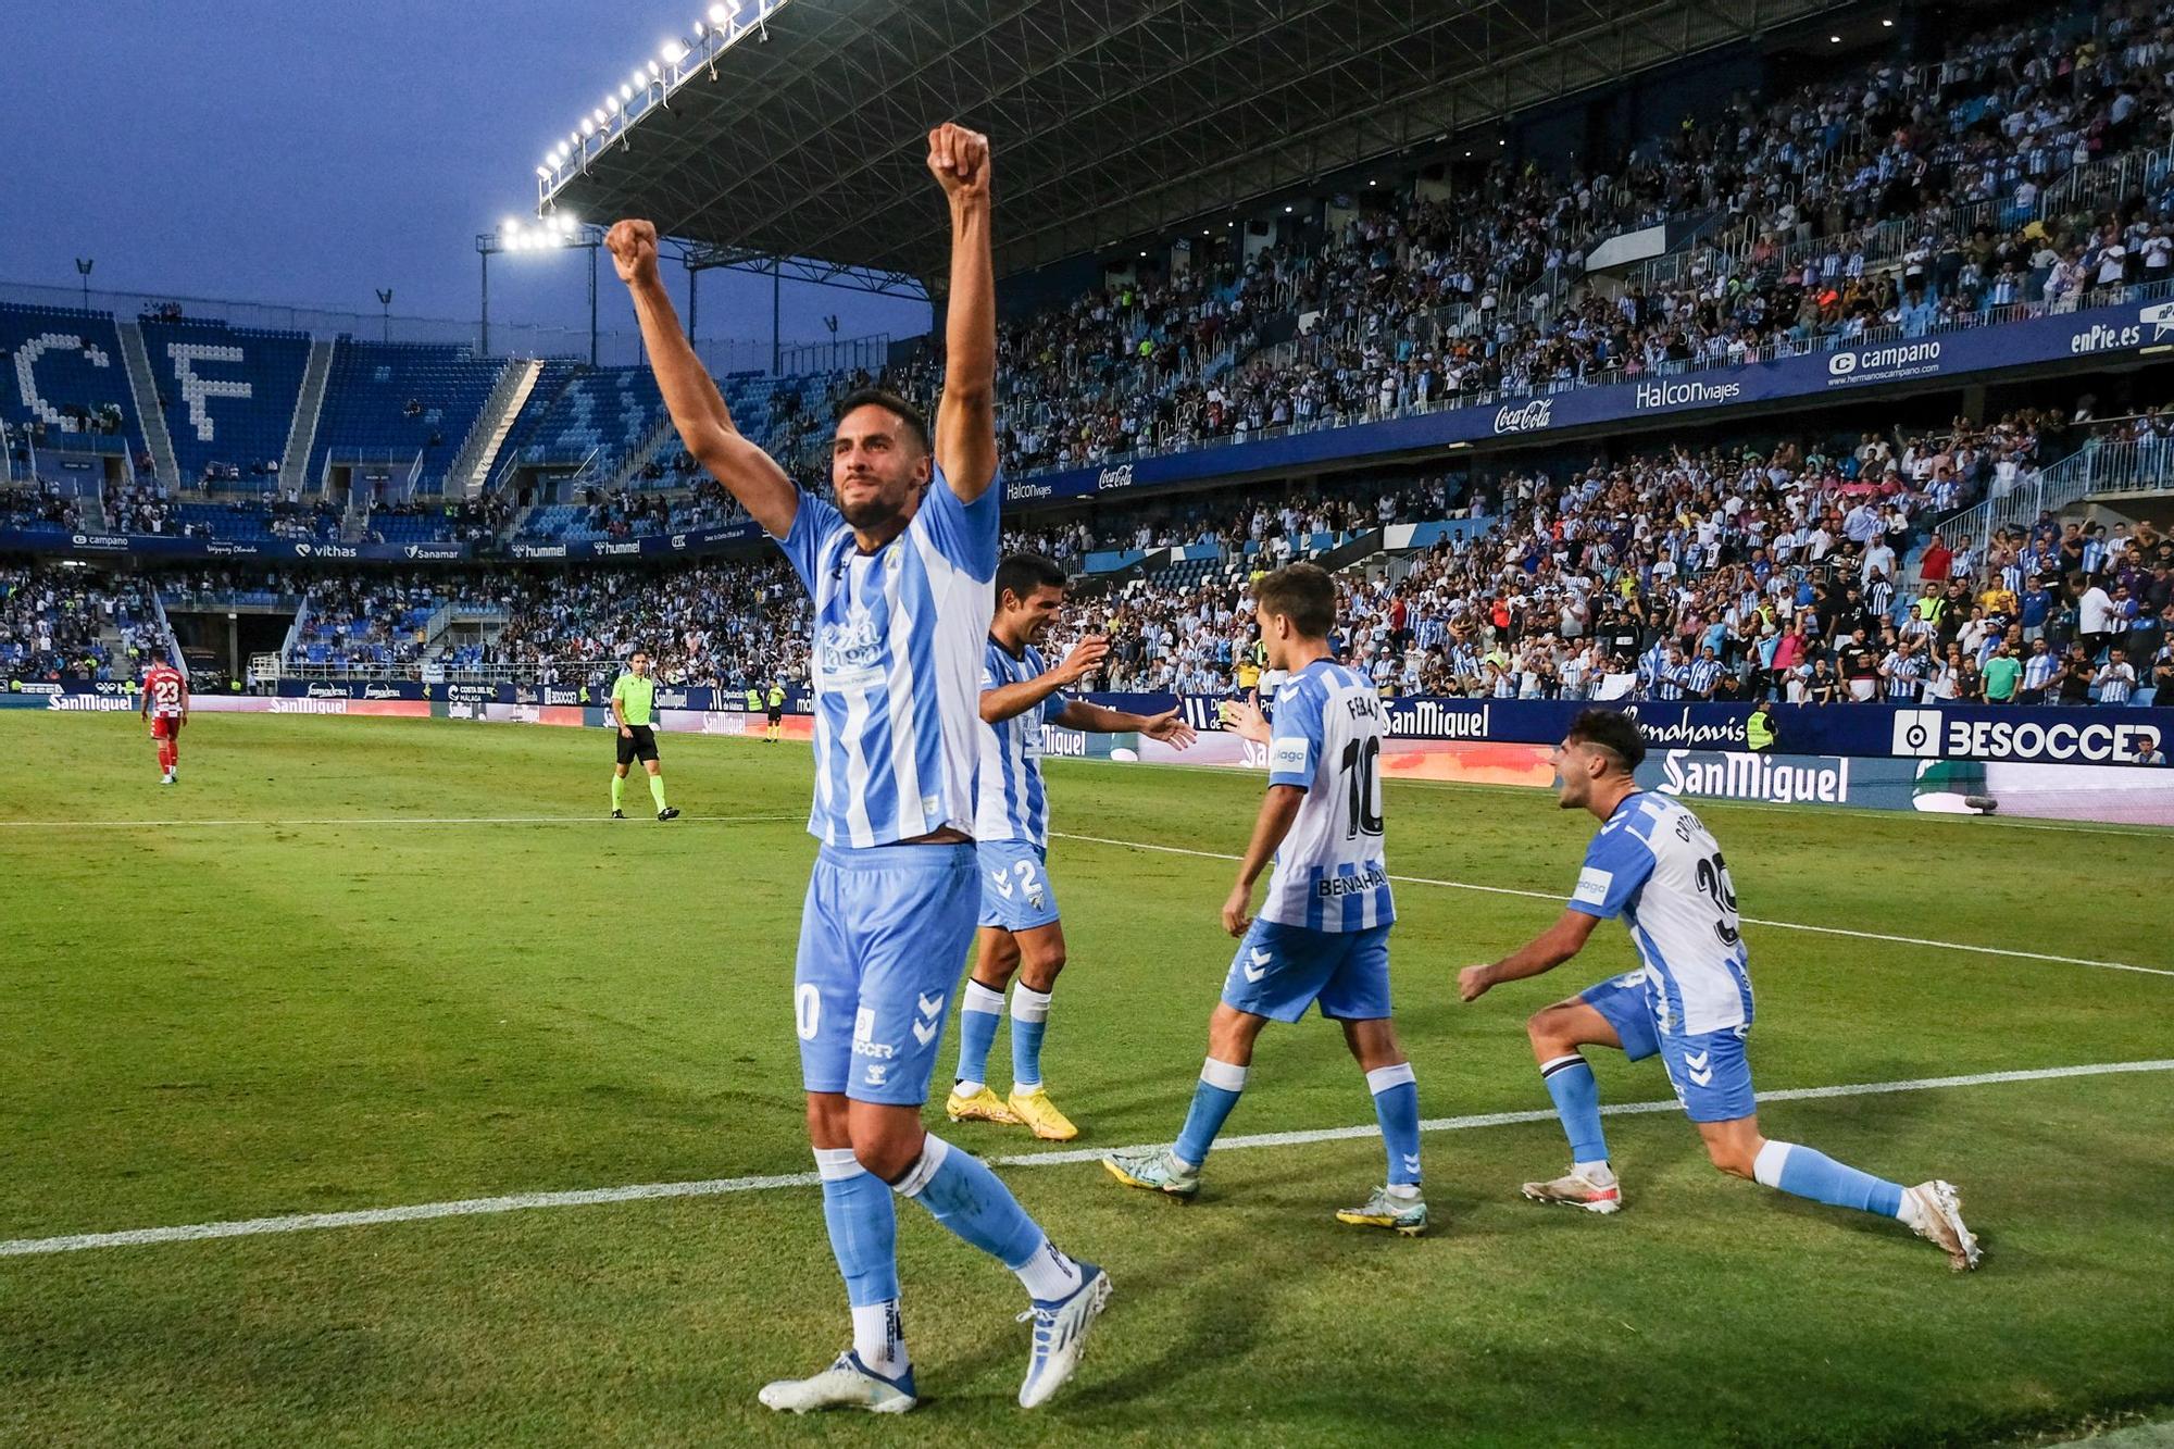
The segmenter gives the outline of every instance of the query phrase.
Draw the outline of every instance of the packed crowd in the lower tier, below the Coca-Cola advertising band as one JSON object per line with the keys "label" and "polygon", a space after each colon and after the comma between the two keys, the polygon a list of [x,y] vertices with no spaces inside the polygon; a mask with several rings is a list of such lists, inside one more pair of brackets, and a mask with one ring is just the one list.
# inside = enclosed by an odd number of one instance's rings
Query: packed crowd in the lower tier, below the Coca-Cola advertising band
{"label": "packed crowd in the lower tier, below the Coca-Cola advertising band", "polygon": [[[2157,418],[2122,431],[2157,435]],[[1385,524],[1452,522],[1426,548],[1372,553],[1341,574],[1346,659],[1385,692],[2126,703],[2174,683],[2174,540],[2148,524],[2085,529],[2048,516],[2002,531],[1976,557],[1967,540],[1939,533],[1972,500],[2026,485],[2065,431],[2059,413],[2022,411],[1928,435],[1867,433],[1854,446],[1676,448],[1489,479],[1420,472],[1137,500],[1028,518],[1004,544],[1072,570],[1098,550],[1198,555],[1115,587],[1083,581],[1061,635],[1111,635],[1096,681],[1111,690],[1254,688],[1248,590],[1261,570]],[[22,594],[63,577],[74,603],[35,607],[46,666],[87,644],[57,618],[96,620],[115,605],[124,620],[143,614],[137,585],[122,585],[126,598],[107,594],[98,574],[17,570],[13,583]],[[807,681],[804,596],[765,553],[670,570],[152,579],[170,607],[215,607],[222,590],[307,590],[296,664],[420,666],[433,616],[463,605],[485,620],[467,635],[483,642],[437,642],[452,668],[594,685],[639,642],[665,683]],[[11,616],[17,655],[26,618]]]}

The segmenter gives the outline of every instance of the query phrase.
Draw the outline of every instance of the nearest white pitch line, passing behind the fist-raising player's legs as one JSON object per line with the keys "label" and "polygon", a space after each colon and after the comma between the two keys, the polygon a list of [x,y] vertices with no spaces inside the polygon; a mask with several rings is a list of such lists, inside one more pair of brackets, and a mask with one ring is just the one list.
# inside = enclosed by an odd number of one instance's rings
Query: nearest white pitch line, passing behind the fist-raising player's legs
{"label": "nearest white pitch line, passing behind the fist-raising player's legs", "polygon": [[[1917,1077],[1913,1081],[1852,1081],[1824,1088],[1783,1088],[1759,1092],[1761,1103],[1770,1101],[1817,1101],[1828,1097],[1878,1097],[1887,1092],[1935,1092],[1941,1088],[1996,1086],[2007,1081],[2057,1081],[2063,1077],[2113,1077],[2122,1073],[2167,1073],[2174,1057],[2157,1062],[2096,1062],[2085,1066],[2039,1066],[2009,1073],[1974,1073],[1967,1077]],[[1600,1110],[1602,1116],[1644,1116],[1648,1112],[1678,1112],[1676,1099],[1628,1101]],[[1420,1123],[1420,1131],[1472,1131],[1476,1127],[1515,1127],[1524,1123],[1552,1123],[1552,1110],[1537,1112],[1483,1112],[1476,1116],[1437,1116]],[[1350,1142],[1378,1138],[1374,1123],[1361,1127],[1320,1127],[1311,1131],[1261,1131],[1252,1136],[1224,1138],[1217,1153],[1250,1151],[1261,1147],[1307,1147],[1313,1142]],[[1013,1153],[991,1157],[996,1166],[1041,1168],[1098,1162],[1107,1153],[1148,1151],[1157,1144],[1135,1147],[1087,1147],[1057,1153]],[[161,1242],[202,1242],[207,1238],[254,1238],[261,1234],[302,1234],[326,1227],[380,1227],[385,1223],[424,1223],[430,1218],[472,1218],[498,1212],[528,1212],[535,1208],[596,1208],[602,1203],[639,1203],[670,1197],[726,1197],[730,1192],[765,1192],[772,1188],[811,1188],[820,1181],[815,1173],[776,1173],[770,1177],[711,1177],[704,1181],[644,1181],[624,1188],[583,1188],[576,1192],[513,1192],[509,1197],[467,1197],[450,1203],[413,1203],[407,1208],[365,1208],[357,1212],[298,1212],[280,1218],[243,1218],[233,1223],[189,1223],[183,1227],[135,1227],[117,1234],[70,1234],[65,1238],[13,1238],[0,1242],[0,1258],[28,1258],[41,1253],[83,1253],[109,1247],[152,1247]]]}

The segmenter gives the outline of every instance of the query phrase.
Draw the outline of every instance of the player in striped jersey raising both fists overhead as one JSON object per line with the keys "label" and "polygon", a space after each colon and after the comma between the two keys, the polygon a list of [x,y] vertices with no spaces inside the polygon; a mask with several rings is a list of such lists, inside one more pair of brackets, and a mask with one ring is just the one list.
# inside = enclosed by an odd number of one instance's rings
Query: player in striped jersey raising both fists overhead
{"label": "player in striped jersey raising both fists overhead", "polygon": [[1109,1301],[1109,1277],[1059,1253],[1011,1190],[922,1129],[944,1010],[974,938],[976,685],[998,553],[996,278],[989,141],[928,133],[952,215],[950,374],[935,437],[904,400],[861,389],[830,444],[837,503],[800,494],[741,437],[657,274],[657,228],[607,246],[635,298],[687,450],[778,542],[815,600],[815,807],[794,1020],[830,1249],[852,1349],[761,1392],[776,1410],[915,1405],[898,1310],[891,1190],[1026,1286],[1033,1360],[1020,1403],[1057,1392]]}

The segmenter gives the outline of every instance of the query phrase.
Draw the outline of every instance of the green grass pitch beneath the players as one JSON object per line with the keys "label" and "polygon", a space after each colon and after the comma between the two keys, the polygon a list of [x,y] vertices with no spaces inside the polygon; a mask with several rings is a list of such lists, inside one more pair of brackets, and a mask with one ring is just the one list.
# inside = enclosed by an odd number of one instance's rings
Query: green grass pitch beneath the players
{"label": "green grass pitch beneath the players", "polygon": [[[0,1240],[807,1173],[807,748],[667,735],[663,759],[687,818],[611,822],[600,733],[198,716],[161,790],[133,716],[0,714]],[[1057,829],[1207,853],[1244,846],[1259,798],[1237,772],[1050,775]],[[1391,870],[1437,881],[1559,896],[1591,829],[1535,792],[1387,798]],[[1754,918],[2174,968],[2170,833],[1702,814]],[[1080,1147],[1167,1140],[1230,959],[1230,864],[1059,840],[1050,866],[1072,942],[1052,1097]],[[1546,1107],[1522,1018],[1626,968],[1622,929],[1465,1007],[1457,968],[1557,905],[1420,883],[1398,903],[1422,1112]],[[1748,942],[1761,1090],[2174,1057],[2167,975]],[[1596,1064],[1604,1101],[1667,1097],[1657,1064]],[[1267,1033],[1228,1131],[1370,1120],[1337,1031],[1307,1020]],[[1674,1112],[1611,1118],[1615,1218],[1517,1197],[1563,1164],[1552,1120],[1430,1134],[1422,1240],[1330,1218],[1378,1181],[1372,1140],[1217,1153],[1191,1205],[1091,1162],[1007,1166],[1117,1284],[1033,1416],[1017,1286],[909,1205],[922,1410],[761,1410],[759,1384],[848,1338],[798,1186],[0,1255],[0,1440],[1933,1445],[2174,1405],[2174,1073],[1783,1101],[1763,1125],[1952,1177],[1985,1268],[1715,1175]]]}

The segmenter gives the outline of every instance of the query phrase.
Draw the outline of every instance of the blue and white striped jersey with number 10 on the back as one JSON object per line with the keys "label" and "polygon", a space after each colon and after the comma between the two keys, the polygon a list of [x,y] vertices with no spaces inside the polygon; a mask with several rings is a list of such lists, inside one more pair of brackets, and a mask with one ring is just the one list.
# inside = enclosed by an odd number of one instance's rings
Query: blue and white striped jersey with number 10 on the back
{"label": "blue and white striped jersey with number 10 on the back", "polygon": [[1276,851],[1261,918],[1313,931],[1396,920],[1380,820],[1380,692],[1333,659],[1276,690],[1267,783],[1307,792]]}

